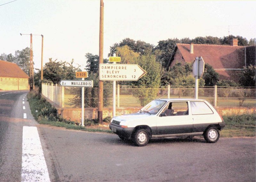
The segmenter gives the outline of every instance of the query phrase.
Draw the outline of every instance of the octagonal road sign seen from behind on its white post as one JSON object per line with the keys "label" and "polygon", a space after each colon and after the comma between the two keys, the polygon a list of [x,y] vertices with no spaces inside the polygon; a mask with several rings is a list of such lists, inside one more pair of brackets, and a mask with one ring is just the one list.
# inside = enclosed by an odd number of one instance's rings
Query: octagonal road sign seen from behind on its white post
{"label": "octagonal road sign seen from behind on its white post", "polygon": [[198,99],[198,79],[202,78],[204,74],[204,60],[203,57],[196,57],[193,63],[193,75],[196,78],[195,83],[195,98]]}

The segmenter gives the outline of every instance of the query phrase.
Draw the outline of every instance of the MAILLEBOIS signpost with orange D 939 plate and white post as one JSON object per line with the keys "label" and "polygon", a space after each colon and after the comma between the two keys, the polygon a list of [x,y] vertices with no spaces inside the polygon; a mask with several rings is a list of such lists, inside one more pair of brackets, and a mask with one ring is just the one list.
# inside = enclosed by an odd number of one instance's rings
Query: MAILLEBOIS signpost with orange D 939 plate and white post
{"label": "MAILLEBOIS signpost with orange D 939 plate and white post", "polygon": [[[80,75],[80,72],[76,72],[76,78],[82,78],[82,80],[60,80],[61,86],[82,87],[82,121],[81,121],[82,126],[84,126],[84,87],[93,87],[93,80],[84,80],[84,78],[87,78],[87,72],[86,74],[85,73],[83,74],[83,73],[84,72],[82,72]],[[82,74],[83,74],[83,77],[82,77]]]}

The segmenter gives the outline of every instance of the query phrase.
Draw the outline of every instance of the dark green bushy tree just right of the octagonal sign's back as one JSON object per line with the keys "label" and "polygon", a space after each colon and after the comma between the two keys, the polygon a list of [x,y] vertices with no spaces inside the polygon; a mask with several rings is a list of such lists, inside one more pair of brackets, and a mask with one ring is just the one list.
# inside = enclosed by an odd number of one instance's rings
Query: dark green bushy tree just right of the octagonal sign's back
{"label": "dark green bushy tree just right of the octagonal sign's back", "polygon": [[205,86],[212,87],[219,81],[219,74],[215,72],[210,64],[206,63],[204,65],[203,79],[205,81]]}

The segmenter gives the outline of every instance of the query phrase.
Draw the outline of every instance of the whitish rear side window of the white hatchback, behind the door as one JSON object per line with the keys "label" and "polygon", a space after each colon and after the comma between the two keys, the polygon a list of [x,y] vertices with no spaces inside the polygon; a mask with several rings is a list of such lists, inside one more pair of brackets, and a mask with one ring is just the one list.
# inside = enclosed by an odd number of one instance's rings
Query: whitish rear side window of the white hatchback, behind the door
{"label": "whitish rear side window of the white hatchback, behind the door", "polygon": [[213,114],[211,108],[205,102],[190,102],[192,115]]}

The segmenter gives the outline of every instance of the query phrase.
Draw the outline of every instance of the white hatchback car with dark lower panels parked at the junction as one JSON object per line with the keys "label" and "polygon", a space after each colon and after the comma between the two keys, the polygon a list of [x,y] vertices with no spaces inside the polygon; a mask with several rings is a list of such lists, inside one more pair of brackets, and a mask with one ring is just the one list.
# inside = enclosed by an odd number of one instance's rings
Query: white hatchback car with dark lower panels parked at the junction
{"label": "white hatchback car with dark lower panels parked at the junction", "polygon": [[151,138],[203,135],[219,140],[225,123],[212,105],[201,99],[156,99],[139,112],[112,118],[109,128],[122,140],[145,146]]}

